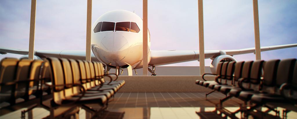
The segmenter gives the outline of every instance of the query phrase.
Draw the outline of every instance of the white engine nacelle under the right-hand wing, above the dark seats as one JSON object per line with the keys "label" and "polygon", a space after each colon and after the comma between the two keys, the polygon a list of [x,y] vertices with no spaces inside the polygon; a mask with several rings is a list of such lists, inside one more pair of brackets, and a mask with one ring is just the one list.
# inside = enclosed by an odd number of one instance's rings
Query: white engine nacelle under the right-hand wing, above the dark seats
{"label": "white engine nacelle under the right-hand wing, above the dark seats", "polygon": [[216,73],[217,65],[219,62],[226,62],[226,61],[228,61],[228,62],[235,61],[236,62],[236,59],[230,55],[220,55],[220,56],[214,58],[214,60],[212,60],[211,65],[210,65],[211,73]]}

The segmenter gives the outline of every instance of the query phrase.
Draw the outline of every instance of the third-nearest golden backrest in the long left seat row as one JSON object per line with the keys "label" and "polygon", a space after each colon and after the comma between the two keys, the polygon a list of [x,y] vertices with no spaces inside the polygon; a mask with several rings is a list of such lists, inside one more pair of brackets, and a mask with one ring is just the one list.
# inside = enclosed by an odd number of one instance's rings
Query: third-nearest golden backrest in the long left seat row
{"label": "third-nearest golden backrest in the long left seat row", "polygon": [[[70,61],[70,65],[71,65],[71,70],[72,70],[72,77],[73,77],[73,83],[75,84],[80,84],[80,68],[78,66],[78,62],[76,62],[73,59],[69,59]],[[74,86],[73,87],[73,94],[77,94],[79,93],[79,87],[78,86]]]}

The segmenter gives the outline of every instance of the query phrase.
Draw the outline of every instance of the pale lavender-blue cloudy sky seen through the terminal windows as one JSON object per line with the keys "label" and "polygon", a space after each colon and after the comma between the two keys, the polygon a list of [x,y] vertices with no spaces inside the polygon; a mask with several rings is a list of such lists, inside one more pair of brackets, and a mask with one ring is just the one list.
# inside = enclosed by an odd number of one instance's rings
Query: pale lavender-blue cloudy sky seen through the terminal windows
{"label": "pale lavender-blue cloudy sky seen through the terminal windows", "polygon": [[[297,43],[297,1],[260,0],[260,45]],[[28,49],[31,1],[0,0],[0,47]],[[85,50],[87,1],[37,1],[35,50]],[[128,10],[142,18],[142,0],[93,0],[92,24],[111,10]],[[255,46],[252,0],[204,0],[205,50]],[[151,50],[198,50],[198,2],[148,0]],[[297,58],[297,48],[261,52],[262,60]],[[20,57],[0,54],[4,57]],[[255,54],[235,55],[237,61]],[[205,65],[211,64],[210,59]],[[166,66],[199,66],[198,61]]]}

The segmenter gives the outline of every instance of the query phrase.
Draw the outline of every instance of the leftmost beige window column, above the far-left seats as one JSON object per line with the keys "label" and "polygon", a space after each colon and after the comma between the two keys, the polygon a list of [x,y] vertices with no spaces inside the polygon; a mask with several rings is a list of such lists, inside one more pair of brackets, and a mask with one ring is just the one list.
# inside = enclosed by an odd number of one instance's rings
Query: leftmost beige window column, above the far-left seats
{"label": "leftmost beige window column, above the far-left seats", "polygon": [[36,0],[31,0],[30,36],[29,36],[29,59],[34,58],[35,40],[35,20],[36,20]]}

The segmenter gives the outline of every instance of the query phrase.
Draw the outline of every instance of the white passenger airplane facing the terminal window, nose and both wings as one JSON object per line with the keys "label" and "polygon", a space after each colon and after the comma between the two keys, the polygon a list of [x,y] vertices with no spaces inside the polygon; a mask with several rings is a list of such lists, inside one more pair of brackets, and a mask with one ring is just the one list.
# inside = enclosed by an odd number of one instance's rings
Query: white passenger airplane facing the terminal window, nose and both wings
{"label": "white passenger airplane facing the terminal window, nose and both wings", "polygon": [[[150,33],[148,30],[148,68],[152,75],[156,75],[155,66],[167,65],[179,62],[199,61],[199,51],[154,51],[150,49]],[[282,48],[296,47],[296,44],[261,47],[261,51],[270,51]],[[92,26],[91,54],[92,61],[102,62],[108,73],[110,68],[127,68],[128,73],[132,69],[143,67],[143,20],[133,12],[127,10],[113,10],[101,15]],[[0,47],[1,54],[22,54],[20,58],[28,58],[28,50]],[[233,55],[255,53],[255,48],[235,50],[205,50],[205,59],[210,58],[211,72],[214,73],[216,66],[222,61],[236,61]],[[35,50],[34,59],[45,57],[61,57],[85,60],[85,51],[66,50]]]}

